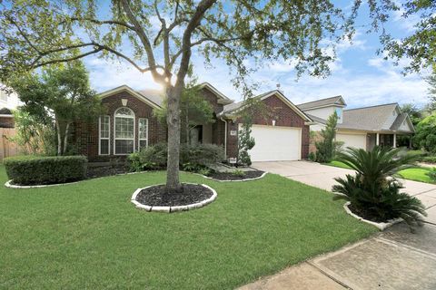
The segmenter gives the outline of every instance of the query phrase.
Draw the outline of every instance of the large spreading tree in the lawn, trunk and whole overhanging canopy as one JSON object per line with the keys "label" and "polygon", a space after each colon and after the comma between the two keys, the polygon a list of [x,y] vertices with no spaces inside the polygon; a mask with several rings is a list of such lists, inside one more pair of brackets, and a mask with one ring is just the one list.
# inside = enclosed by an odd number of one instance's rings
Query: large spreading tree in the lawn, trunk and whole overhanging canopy
{"label": "large spreading tree in the lawn, trunk and whole overhanging canopy", "polygon": [[[413,6],[424,2],[430,4]],[[243,84],[243,95],[248,97],[251,94],[244,85],[245,76],[264,61],[292,60],[299,74],[326,75],[328,63],[334,58],[328,48],[344,34],[354,33],[353,19],[362,1],[354,3],[348,17],[331,0],[113,0],[109,7],[93,0],[4,1],[0,12],[0,75],[7,80],[12,73],[97,53],[151,73],[154,81],[163,85],[168,100],[166,185],[169,191],[178,191],[179,104],[193,53],[203,55],[206,63],[213,63],[213,58],[224,59],[235,68],[234,84]],[[373,27],[398,9],[393,0],[364,3],[371,10]],[[409,0],[411,6],[406,8],[411,14],[420,13],[420,9],[434,8],[431,3]],[[404,54],[392,45],[386,47],[395,55]],[[71,53],[77,49],[80,53]],[[434,62],[430,58],[433,52],[422,50],[415,58],[421,57],[425,61],[421,64],[427,65]],[[246,62],[247,58],[253,62]]]}

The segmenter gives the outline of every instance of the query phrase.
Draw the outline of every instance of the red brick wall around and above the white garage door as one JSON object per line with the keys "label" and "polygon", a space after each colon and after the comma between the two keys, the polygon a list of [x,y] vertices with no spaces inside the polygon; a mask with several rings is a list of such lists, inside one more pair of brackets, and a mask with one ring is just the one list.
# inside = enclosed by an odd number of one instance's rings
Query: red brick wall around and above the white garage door
{"label": "red brick wall around and above the white garage door", "polygon": [[[310,129],[309,126],[304,125],[304,119],[275,95],[263,100],[263,104],[263,108],[261,107],[261,109],[253,113],[253,124],[271,126],[272,120],[275,120],[275,126],[302,128],[302,159],[307,159],[309,154]],[[237,157],[238,154],[238,137],[231,136],[230,131],[238,131],[239,122],[240,120],[229,121],[227,135],[228,157]]]}

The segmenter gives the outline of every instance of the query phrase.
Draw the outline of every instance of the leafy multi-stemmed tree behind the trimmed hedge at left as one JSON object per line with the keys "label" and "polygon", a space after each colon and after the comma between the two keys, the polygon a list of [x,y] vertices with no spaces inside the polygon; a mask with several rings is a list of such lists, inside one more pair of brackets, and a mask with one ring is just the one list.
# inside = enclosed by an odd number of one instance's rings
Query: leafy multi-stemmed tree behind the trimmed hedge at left
{"label": "leafy multi-stemmed tree behind the trimmed hedge at left", "polygon": [[74,121],[92,121],[103,111],[100,100],[90,89],[84,64],[77,61],[48,66],[41,74],[21,75],[10,83],[24,102],[21,110],[29,118],[44,124],[53,121],[58,155],[67,151]]}

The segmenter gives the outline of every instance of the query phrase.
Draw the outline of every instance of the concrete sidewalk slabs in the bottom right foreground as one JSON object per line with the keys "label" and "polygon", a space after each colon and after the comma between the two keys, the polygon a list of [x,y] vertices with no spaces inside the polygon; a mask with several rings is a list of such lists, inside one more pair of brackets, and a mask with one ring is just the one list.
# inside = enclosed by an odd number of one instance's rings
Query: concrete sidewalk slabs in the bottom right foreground
{"label": "concrete sidewalk slabs in the bottom right foreground", "polygon": [[375,237],[315,257],[240,290],[436,289],[436,226],[411,234],[398,224]]}

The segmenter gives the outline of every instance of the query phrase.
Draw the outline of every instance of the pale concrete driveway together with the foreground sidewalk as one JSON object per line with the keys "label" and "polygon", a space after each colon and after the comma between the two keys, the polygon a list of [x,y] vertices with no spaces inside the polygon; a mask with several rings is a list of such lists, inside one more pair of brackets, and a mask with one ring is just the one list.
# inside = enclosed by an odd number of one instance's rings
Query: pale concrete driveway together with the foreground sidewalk
{"label": "pale concrete driveway together with the foreground sidewalk", "polygon": [[[353,174],[305,161],[255,162],[253,167],[313,187],[330,190],[335,177]],[[414,233],[400,223],[374,237],[317,256],[282,272],[263,277],[240,290],[432,290],[436,289],[436,186],[401,180],[405,191],[420,198],[429,217]]]}

